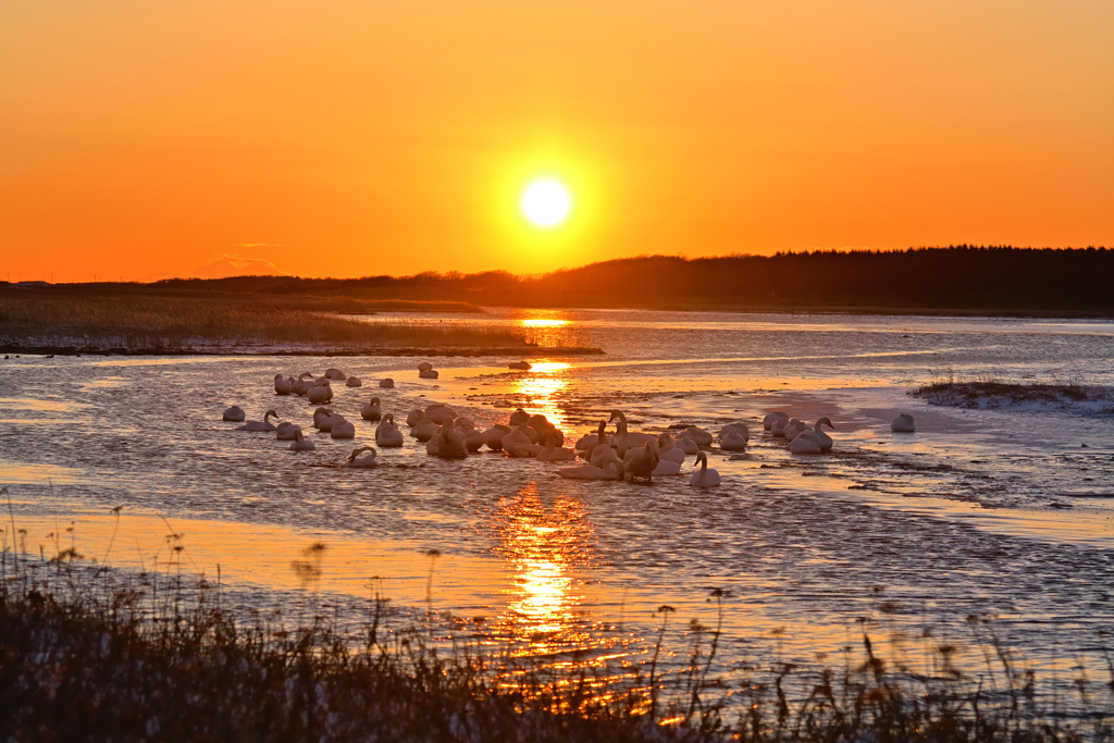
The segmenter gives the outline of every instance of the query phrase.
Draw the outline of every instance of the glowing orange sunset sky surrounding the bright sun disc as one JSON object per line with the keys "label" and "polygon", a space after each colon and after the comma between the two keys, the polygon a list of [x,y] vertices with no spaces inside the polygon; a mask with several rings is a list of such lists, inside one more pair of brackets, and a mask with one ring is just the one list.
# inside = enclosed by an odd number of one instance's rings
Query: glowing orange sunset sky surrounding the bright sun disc
{"label": "glowing orange sunset sky surrounding the bright sun disc", "polygon": [[960,242],[1114,245],[1114,2],[0,2],[0,278]]}

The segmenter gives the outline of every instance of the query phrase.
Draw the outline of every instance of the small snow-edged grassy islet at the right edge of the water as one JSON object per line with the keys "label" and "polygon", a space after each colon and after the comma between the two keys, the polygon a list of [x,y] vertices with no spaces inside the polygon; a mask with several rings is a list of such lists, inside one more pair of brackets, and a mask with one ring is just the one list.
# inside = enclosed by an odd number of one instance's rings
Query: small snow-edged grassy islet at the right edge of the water
{"label": "small snow-edged grassy islet at the right edge of the water", "polygon": [[1026,380],[1012,382],[994,374],[967,378],[954,370],[934,371],[932,379],[919,387],[907,387],[910,395],[924,398],[932,404],[959,408],[1000,408],[1008,405],[1042,405],[1068,408],[1079,403],[1111,405],[1101,412],[1114,412],[1114,391],[1098,384],[1063,373],[1053,373],[1048,381]]}

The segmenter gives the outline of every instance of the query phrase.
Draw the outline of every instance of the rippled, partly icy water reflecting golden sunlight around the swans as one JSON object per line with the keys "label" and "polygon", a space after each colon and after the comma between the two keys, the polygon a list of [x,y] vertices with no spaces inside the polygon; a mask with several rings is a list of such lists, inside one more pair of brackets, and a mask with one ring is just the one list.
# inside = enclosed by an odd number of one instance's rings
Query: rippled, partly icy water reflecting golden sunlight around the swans
{"label": "rippled, partly icy water reflecting golden sunlight around the swans", "polygon": [[[962,638],[968,615],[991,613],[1035,667],[1062,671],[1114,619],[1112,417],[905,395],[945,370],[1114,384],[1111,324],[634,311],[443,320],[516,325],[607,355],[539,359],[530,372],[508,372],[507,359],[434,359],[436,381],[417,378],[419,360],[395,358],[2,362],[0,482],[29,549],[72,518],[100,554],[107,511],[124,506],[128,549],[111,563],[149,568],[165,516],[198,569],[221,563],[245,589],[277,595],[297,585],[290,561],[321,540],[320,588],[335,600],[365,596],[379,576],[413,616],[448,609],[478,642],[514,639],[534,654],[637,654],[662,604],[677,609],[677,627],[714,624],[706,599],[721,587],[726,667],[808,662],[853,638],[862,618],[879,634],[935,625]],[[744,454],[711,452],[724,486],[701,491],[687,473],[643,487],[561,480],[557,465],[495,453],[440,461],[409,438],[380,450],[389,466],[341,470],[315,465],[335,465],[353,442],[317,434],[316,451],[293,453],[221,422],[238,403],[250,419],[274,408],[312,430],[314,407],[275,397],[271,378],[331,365],[368,384],[338,387],[332,404],[356,423],[355,446],[373,439],[359,416],[371,395],[399,418],[437,400],[483,426],[522,405],[573,440],[614,408],[652,431],[737,419],[753,431],[780,409],[830,416],[837,444],[794,457],[758,433]],[[375,387],[382,377],[398,389]],[[890,433],[898,411],[916,416],[916,434]]]}

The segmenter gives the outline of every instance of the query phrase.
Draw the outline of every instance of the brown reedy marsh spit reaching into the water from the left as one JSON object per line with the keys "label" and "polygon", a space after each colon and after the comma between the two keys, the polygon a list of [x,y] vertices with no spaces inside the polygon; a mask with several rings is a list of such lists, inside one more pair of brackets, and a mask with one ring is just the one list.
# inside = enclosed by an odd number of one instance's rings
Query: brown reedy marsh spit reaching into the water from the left
{"label": "brown reedy marsh spit reaching into the water from the left", "polygon": [[[385,303],[385,304],[400,304]],[[412,307],[439,303],[401,303]],[[451,304],[451,303],[447,303]],[[365,323],[383,302],[346,297],[217,293],[0,293],[0,343],[176,349],[198,343],[300,343],[356,348],[525,346],[525,338],[475,324]]]}

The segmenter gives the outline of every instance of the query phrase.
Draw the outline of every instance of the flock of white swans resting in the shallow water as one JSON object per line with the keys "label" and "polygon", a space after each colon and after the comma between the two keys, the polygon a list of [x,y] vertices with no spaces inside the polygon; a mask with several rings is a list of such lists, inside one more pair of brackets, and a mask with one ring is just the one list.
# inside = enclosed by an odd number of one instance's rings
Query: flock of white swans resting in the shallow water
{"label": "flock of white swans resting in the shallow water", "polygon": [[[522,362],[526,364],[526,362]],[[526,364],[528,366],[528,364]],[[521,365],[511,364],[512,369]],[[418,366],[420,379],[437,379],[438,372],[429,362]],[[355,420],[374,424],[370,432],[379,449],[398,449],[405,446],[407,437],[395,421],[394,413],[383,412],[389,402],[371,397],[355,403],[349,420],[332,408],[325,407],[334,398],[333,384],[338,389],[360,390],[363,384],[356,377],[345,375],[339,369],[326,369],[321,377],[304,372],[299,377],[275,374],[273,387],[276,395],[306,398],[316,405],[310,424],[321,434],[334,440],[353,440],[360,433]],[[380,390],[393,390],[394,380],[383,379]],[[380,392],[384,394],[384,392]],[[422,395],[424,397],[424,395]],[[359,416],[359,418],[356,418]],[[274,418],[273,423],[271,419]],[[240,405],[228,407],[222,420],[241,423],[237,431],[275,433],[278,441],[290,441],[294,452],[314,451],[316,444],[306,438],[302,426],[278,420],[275,410],[267,410],[263,420],[245,420]],[[414,408],[405,414],[404,423],[409,436],[417,443],[424,444],[429,456],[440,459],[467,459],[479,453],[482,448],[500,452],[506,458],[534,459],[539,462],[565,465],[555,473],[570,480],[614,480],[652,483],[654,478],[680,476],[685,461],[695,456],[694,469],[687,470],[688,485],[695,488],[714,488],[723,482],[720,472],[709,467],[709,452],[744,454],[751,440],[750,427],[742,421],[727,422],[716,434],[697,426],[671,426],[661,432],[632,431],[626,413],[622,410],[608,411],[606,420],[599,420],[596,430],[582,436],[566,447],[566,436],[540,413],[530,413],[522,408],[510,413],[506,422],[488,428],[458,413],[444,403],[434,402],[426,408]],[[614,431],[608,433],[608,427]],[[834,440],[823,429],[836,430],[829,417],[818,419],[812,426],[791,418],[784,411],[772,411],[762,420],[763,434],[772,442],[779,440],[788,444],[792,454],[818,456],[832,450]],[[901,413],[891,422],[895,432],[915,431],[912,416]],[[719,447],[715,442],[719,440]],[[358,447],[341,463],[341,467],[370,469],[378,467],[375,447]],[[578,463],[579,462],[579,463]]]}

